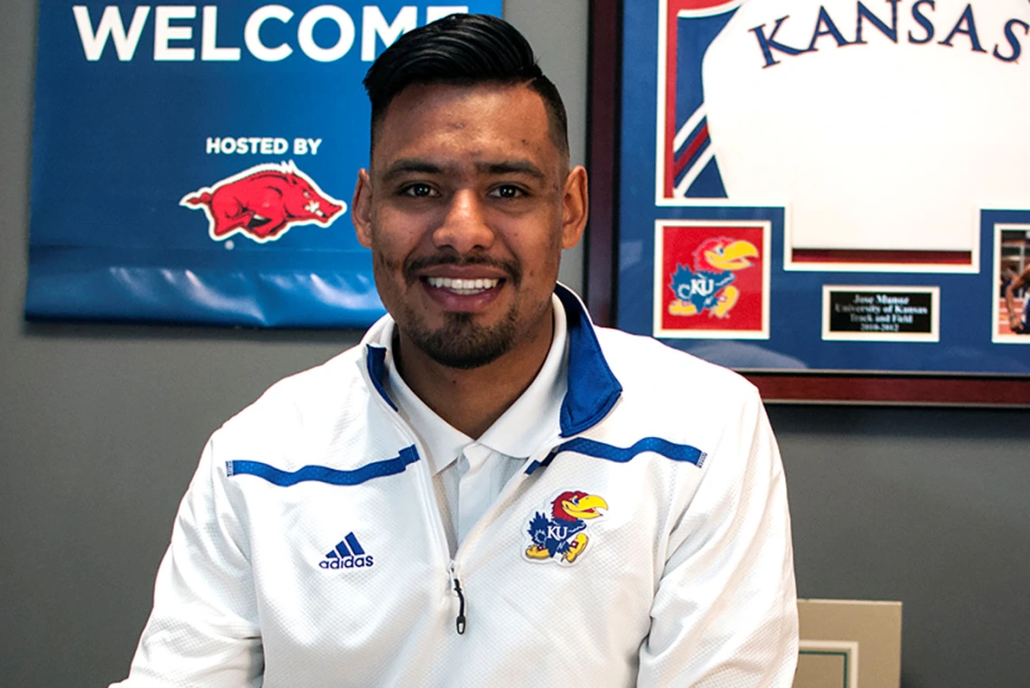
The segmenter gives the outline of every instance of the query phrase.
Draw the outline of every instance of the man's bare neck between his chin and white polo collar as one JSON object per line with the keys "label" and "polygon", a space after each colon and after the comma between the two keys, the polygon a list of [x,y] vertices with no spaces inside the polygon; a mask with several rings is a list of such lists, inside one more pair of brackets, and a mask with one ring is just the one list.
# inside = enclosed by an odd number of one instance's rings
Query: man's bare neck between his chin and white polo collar
{"label": "man's bare neck between his chin and white polo collar", "polygon": [[480,368],[443,366],[399,333],[394,347],[398,372],[411,390],[441,418],[478,439],[533,383],[547,358],[554,337],[550,311],[511,351]]}

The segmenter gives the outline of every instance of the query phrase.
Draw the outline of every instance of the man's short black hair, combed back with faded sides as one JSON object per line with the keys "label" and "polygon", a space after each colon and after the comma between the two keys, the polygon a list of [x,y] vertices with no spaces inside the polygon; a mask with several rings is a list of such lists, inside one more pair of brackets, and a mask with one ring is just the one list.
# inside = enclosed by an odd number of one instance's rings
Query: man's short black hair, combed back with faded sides
{"label": "man's short black hair, combed back with faded sides", "polygon": [[537,65],[533,47],[508,22],[488,14],[450,14],[401,36],[372,63],[365,89],[372,101],[372,145],[386,108],[410,85],[524,84],[547,109],[551,138],[569,157],[561,96]]}

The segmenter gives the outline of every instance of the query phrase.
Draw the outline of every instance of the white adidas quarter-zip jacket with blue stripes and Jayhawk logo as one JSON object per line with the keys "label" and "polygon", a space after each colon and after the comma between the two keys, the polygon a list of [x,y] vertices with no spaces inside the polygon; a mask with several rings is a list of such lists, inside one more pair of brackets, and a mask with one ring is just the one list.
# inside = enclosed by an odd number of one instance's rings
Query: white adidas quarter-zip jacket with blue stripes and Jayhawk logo
{"label": "white adidas quarter-zip jacket with blue stripes and Jayhawk logo", "polygon": [[559,431],[450,555],[363,342],[211,437],[123,688],[788,688],[786,486],[755,388],[558,286]]}

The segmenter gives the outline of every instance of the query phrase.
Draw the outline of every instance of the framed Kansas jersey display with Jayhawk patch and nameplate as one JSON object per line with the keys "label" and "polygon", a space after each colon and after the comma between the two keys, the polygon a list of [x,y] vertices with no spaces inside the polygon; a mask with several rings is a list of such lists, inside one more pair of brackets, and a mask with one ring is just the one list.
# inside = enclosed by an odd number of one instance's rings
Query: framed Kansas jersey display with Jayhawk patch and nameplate
{"label": "framed Kansas jersey display with Jayhawk patch and nameplate", "polygon": [[1027,26],[594,0],[591,312],[767,401],[1030,406]]}

